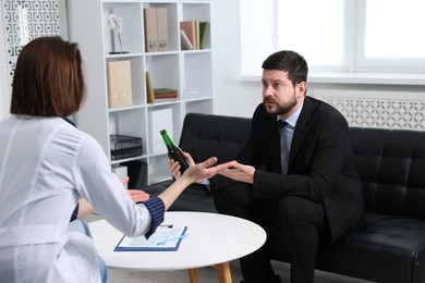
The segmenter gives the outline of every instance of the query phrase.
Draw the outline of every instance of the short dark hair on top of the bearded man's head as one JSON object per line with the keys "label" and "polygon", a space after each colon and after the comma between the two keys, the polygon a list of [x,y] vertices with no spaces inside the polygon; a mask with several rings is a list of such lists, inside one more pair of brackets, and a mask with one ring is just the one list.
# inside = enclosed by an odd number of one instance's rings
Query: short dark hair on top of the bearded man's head
{"label": "short dark hair on top of the bearded man's head", "polygon": [[307,82],[308,65],[302,56],[294,51],[282,50],[272,53],[264,62],[264,70],[281,70],[288,72],[292,85]]}

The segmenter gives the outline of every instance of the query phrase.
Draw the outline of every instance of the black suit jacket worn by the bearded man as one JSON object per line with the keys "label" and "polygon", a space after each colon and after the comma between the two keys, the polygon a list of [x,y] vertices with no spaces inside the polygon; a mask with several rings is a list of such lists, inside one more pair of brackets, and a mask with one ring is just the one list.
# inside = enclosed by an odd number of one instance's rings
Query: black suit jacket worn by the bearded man
{"label": "black suit jacket worn by the bearded man", "polygon": [[349,144],[348,123],[339,111],[320,100],[305,97],[291,144],[288,174],[280,173],[277,116],[267,114],[263,103],[254,112],[251,137],[238,161],[257,169],[253,184],[256,198],[300,196],[323,202],[331,242],[364,220],[363,190]]}

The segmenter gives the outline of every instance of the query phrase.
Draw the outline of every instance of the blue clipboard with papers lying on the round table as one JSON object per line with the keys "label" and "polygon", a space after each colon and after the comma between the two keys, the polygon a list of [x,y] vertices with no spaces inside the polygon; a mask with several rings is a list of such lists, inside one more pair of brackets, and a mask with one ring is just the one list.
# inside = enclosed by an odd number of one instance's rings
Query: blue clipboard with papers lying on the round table
{"label": "blue clipboard with papers lying on the round table", "polygon": [[124,235],[113,251],[175,251],[183,238],[189,236],[186,230],[187,226],[158,226],[148,239],[144,235]]}

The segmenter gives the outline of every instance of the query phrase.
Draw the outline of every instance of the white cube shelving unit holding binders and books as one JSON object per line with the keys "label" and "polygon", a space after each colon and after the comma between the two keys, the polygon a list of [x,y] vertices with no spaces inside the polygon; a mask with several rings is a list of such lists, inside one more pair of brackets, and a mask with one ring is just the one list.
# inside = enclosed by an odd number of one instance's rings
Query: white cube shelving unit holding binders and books
{"label": "white cube shelving unit holding binders and books", "polygon": [[[99,142],[112,167],[133,160],[146,162],[148,184],[158,182],[163,176],[170,177],[166,147],[158,152],[153,150],[153,142],[158,137],[154,135],[159,135],[159,132],[153,131],[151,112],[172,110],[172,121],[159,121],[159,124],[172,124],[172,138],[175,143],[180,139],[186,113],[212,113],[211,30],[208,33],[206,49],[180,49],[180,22],[210,22],[210,5],[211,1],[208,0],[66,1],[69,40],[78,44],[85,62],[87,84],[87,98],[75,115],[76,125]],[[144,8],[167,9],[168,51],[145,51]],[[113,40],[116,35],[112,36],[108,26],[111,12],[123,21],[122,51],[127,53],[110,54],[111,51],[120,51],[118,40]],[[132,104],[109,109],[107,63],[121,60],[131,61]],[[147,103],[146,71],[150,72],[154,88],[178,89],[179,98]],[[197,90],[198,98],[183,98],[184,89]],[[141,137],[142,156],[111,160],[109,137],[113,134]]]}

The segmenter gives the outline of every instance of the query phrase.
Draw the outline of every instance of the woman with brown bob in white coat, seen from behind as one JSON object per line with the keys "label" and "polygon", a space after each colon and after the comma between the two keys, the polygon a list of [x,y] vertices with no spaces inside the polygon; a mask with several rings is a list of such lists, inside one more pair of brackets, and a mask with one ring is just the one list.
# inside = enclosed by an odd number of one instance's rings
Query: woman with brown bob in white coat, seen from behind
{"label": "woman with brown bob in white coat, seen from behind", "polygon": [[83,103],[82,63],[60,37],[31,41],[17,59],[12,115],[0,122],[0,282],[100,282],[92,239],[66,232],[80,198],[125,235],[149,236],[187,185],[232,165],[210,158],[135,205],[98,143],[61,119]]}

